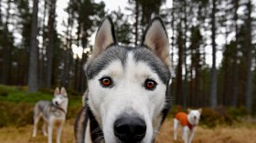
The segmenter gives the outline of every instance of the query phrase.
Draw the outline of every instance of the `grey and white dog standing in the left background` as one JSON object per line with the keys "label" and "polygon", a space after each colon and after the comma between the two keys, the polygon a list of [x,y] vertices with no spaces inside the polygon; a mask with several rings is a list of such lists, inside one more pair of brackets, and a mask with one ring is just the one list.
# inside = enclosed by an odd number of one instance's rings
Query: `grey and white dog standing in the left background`
{"label": "grey and white dog standing in the left background", "polygon": [[40,117],[43,117],[44,124],[42,127],[44,136],[48,136],[48,143],[52,142],[52,130],[54,125],[58,125],[56,142],[60,143],[60,134],[62,126],[66,119],[68,108],[68,94],[64,87],[55,89],[52,102],[40,100],[34,108],[34,130],[33,137],[37,136],[37,123]]}

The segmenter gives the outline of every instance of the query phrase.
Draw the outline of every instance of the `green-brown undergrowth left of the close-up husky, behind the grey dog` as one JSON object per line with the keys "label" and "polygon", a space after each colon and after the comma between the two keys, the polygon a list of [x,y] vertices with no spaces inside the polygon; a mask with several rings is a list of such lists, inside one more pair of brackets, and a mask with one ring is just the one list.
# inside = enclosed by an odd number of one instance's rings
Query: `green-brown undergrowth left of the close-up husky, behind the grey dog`
{"label": "green-brown undergrowth left of the close-up husky, behind the grey dog", "polygon": [[[74,93],[71,92],[70,93]],[[67,118],[74,118],[81,106],[81,96],[69,94]],[[27,93],[26,87],[7,87],[0,85],[0,128],[21,127],[33,123],[33,107],[39,100],[51,100],[53,89],[41,89]]]}

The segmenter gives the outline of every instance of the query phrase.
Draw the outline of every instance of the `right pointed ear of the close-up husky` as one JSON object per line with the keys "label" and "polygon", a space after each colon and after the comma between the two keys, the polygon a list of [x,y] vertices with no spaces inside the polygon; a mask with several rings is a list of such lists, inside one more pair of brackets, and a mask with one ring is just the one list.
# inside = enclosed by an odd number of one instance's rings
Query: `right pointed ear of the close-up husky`
{"label": "right pointed ear of the close-up husky", "polygon": [[159,16],[156,16],[145,30],[142,45],[152,49],[156,56],[170,66],[169,40],[164,23]]}

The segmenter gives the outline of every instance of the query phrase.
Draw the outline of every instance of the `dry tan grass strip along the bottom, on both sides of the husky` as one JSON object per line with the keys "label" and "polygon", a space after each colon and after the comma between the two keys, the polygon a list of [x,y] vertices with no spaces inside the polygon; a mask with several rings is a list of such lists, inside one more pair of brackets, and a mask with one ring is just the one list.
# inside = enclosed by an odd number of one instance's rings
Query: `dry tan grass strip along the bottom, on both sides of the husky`
{"label": "dry tan grass strip along the bottom, on both sides of the husky", "polygon": [[[73,119],[66,122],[62,132],[62,143],[74,143]],[[165,121],[156,143],[182,143],[181,132],[178,141],[173,141],[172,119]],[[32,138],[32,126],[22,128],[0,128],[1,143],[47,143],[47,137],[38,129],[37,138]],[[180,129],[180,128],[179,128]],[[54,136],[55,138],[55,136]],[[256,125],[238,125],[236,127],[197,128],[194,143],[256,143]]]}

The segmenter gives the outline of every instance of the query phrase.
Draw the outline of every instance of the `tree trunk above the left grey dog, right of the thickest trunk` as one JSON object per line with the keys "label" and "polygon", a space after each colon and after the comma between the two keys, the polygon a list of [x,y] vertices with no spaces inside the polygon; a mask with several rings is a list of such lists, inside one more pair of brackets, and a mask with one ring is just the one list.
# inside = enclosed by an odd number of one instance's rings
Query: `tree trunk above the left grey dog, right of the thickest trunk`
{"label": "tree trunk above the left grey dog, right of the thickest trunk", "polygon": [[53,48],[54,48],[54,35],[55,35],[55,9],[56,9],[56,0],[52,0],[49,6],[49,14],[48,14],[48,47],[47,47],[47,83],[46,87],[51,87],[52,85],[52,56],[53,56]]}

